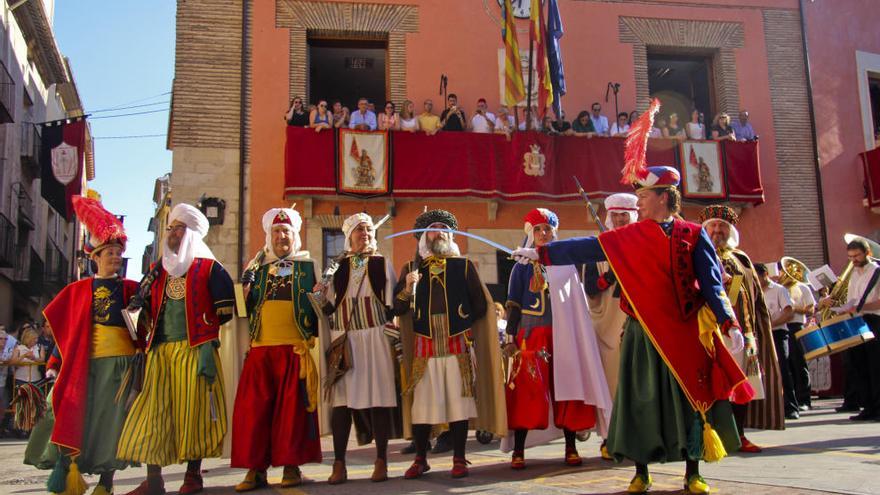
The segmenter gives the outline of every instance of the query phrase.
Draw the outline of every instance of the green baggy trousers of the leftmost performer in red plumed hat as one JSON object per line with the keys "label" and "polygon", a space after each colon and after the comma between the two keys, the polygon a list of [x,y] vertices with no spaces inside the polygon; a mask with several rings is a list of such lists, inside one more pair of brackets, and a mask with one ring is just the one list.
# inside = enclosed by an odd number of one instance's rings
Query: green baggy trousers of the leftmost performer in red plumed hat
{"label": "green baggy trousers of the leftmost performer in red plumed hat", "polygon": [[[128,387],[116,402],[116,393],[128,371],[131,357],[106,357],[89,361],[89,385],[86,405],[82,451],[76,459],[79,470],[88,474],[102,474],[134,465],[116,458],[116,444],[128,411],[125,400]],[[58,446],[53,444],[52,429],[55,415],[52,410],[52,392],[47,397],[48,411],[34,426],[25,449],[24,463],[39,469],[52,469],[58,459]]]}

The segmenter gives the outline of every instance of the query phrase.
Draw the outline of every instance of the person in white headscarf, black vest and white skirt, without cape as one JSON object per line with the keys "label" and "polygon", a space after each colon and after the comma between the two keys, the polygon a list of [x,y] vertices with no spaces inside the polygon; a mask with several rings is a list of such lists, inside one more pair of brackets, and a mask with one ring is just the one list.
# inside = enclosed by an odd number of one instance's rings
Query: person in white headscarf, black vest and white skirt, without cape
{"label": "person in white headscarf, black vest and white skirt, without cape", "polygon": [[[376,246],[373,219],[357,213],[342,223],[343,256],[332,278],[317,286],[320,327],[322,431],[333,432],[331,485],[348,479],[345,454],[354,423],[358,443],[376,442],[371,481],[388,479],[388,439],[399,437],[398,389],[394,344],[400,332],[392,323],[397,278]],[[395,427],[396,430],[395,431]]]}

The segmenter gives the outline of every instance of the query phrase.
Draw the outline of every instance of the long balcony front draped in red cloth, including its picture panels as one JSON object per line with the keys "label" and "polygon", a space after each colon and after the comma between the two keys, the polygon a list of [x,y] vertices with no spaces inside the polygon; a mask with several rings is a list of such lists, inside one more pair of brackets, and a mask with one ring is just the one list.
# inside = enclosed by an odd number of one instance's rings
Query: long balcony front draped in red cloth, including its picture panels
{"label": "long balcony front draped in red cloth, including its picture panels", "polygon": [[[316,133],[288,126],[285,194],[558,202],[580,198],[576,176],[598,200],[632,191],[620,184],[624,141],[538,132],[516,132],[510,139],[472,132]],[[360,159],[365,150],[369,163]],[[758,156],[757,142],[651,139],[648,144],[648,164],[682,171],[682,195],[696,204],[763,203]]]}

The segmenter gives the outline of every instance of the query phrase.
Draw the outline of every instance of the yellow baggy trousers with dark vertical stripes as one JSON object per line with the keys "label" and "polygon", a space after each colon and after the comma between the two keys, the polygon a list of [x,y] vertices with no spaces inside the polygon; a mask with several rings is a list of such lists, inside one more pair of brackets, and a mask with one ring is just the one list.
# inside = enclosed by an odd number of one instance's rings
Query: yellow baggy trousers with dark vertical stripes
{"label": "yellow baggy trousers with dark vertical stripes", "polygon": [[147,354],[144,388],[132,404],[117,457],[168,466],[220,457],[226,435],[223,372],[214,351],[217,377],[198,375],[199,350],[185,340],[163,342]]}

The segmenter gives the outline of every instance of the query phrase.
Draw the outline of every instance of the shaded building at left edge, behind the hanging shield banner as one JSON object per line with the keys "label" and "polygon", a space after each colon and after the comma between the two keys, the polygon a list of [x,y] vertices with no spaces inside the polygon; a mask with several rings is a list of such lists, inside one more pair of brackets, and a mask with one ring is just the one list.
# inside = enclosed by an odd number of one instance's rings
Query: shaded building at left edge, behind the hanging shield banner
{"label": "shaded building at left edge, behind the hanging shield banner", "polygon": [[[15,7],[14,9],[12,7]],[[43,196],[42,126],[83,116],[70,62],[52,34],[54,2],[3,2],[0,21],[0,323],[40,320],[41,310],[82,269],[75,220]],[[85,191],[94,178],[85,126]],[[76,185],[76,184],[75,184]]]}

